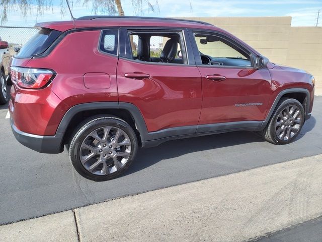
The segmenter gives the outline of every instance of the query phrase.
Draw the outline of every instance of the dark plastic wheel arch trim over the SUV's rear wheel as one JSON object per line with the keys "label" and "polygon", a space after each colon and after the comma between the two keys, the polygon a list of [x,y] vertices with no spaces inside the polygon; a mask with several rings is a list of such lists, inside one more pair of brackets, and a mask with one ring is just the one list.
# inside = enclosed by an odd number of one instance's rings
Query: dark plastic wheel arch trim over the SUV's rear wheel
{"label": "dark plastic wheel arch trim over the SUV's rear wheel", "polygon": [[146,124],[140,110],[131,103],[119,102],[92,102],[77,104],[65,113],[56,133],[63,133],[62,144],[67,144],[75,128],[81,123],[79,120],[84,120],[98,114],[109,114],[117,116],[127,122],[134,130],[139,145],[142,145],[145,135],[147,134]]}

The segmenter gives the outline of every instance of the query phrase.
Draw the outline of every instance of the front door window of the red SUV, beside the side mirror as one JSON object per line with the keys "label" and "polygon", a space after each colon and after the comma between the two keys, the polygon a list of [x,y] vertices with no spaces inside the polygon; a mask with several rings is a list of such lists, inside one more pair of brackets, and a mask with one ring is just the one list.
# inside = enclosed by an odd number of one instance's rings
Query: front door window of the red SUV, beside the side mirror
{"label": "front door window of the red SUV, beside the side mirror", "polygon": [[215,35],[194,33],[202,65],[251,67],[250,56],[229,41]]}

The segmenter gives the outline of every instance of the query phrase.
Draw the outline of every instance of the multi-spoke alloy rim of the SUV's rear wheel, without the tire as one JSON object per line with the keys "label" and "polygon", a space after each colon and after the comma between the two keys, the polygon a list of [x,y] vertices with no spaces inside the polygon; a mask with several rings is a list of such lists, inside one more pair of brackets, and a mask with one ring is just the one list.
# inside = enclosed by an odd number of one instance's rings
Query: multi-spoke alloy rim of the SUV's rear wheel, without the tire
{"label": "multi-spoke alloy rim of the SUV's rear wheel, without the tire", "polygon": [[122,168],[131,154],[129,136],[117,127],[94,130],[82,142],[79,158],[85,169],[96,175],[111,174]]}

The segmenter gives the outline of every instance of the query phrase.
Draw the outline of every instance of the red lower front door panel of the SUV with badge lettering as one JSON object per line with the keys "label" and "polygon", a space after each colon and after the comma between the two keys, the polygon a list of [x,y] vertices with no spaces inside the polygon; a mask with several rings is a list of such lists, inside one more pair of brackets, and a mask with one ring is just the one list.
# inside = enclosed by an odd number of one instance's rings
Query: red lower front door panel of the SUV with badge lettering
{"label": "red lower front door panel of the SUV with badge lettering", "polygon": [[[264,120],[271,91],[268,70],[199,67],[202,75],[202,111],[199,125]],[[213,81],[207,75],[226,77]],[[262,105],[236,106],[236,104]]]}

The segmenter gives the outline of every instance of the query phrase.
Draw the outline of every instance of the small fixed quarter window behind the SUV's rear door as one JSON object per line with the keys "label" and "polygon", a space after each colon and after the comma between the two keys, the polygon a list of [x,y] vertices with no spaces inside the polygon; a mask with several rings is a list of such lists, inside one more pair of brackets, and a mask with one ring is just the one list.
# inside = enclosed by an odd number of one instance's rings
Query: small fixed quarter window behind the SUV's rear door
{"label": "small fixed quarter window behind the SUV's rear door", "polygon": [[101,51],[117,55],[118,32],[117,29],[103,31],[100,43]]}

